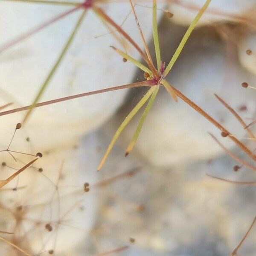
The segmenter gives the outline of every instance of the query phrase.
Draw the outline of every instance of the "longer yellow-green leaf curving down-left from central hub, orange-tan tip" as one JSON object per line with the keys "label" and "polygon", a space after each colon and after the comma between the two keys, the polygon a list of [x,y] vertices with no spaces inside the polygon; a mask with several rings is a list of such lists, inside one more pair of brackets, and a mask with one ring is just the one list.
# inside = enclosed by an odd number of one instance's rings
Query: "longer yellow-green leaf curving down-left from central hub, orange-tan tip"
{"label": "longer yellow-green leaf curving down-left from central hub, orange-tan tip", "polygon": [[133,108],[133,110],[128,114],[128,116],[125,117],[125,120],[122,122],[122,124],[119,126],[119,128],[116,130],[116,133],[114,134],[111,143],[108,146],[107,151],[105,152],[97,171],[99,171],[102,166],[104,165],[105,161],[108,158],[108,155],[110,154],[113,145],[116,143],[116,140],[118,139],[119,135],[123,131],[123,129],[128,125],[128,123],[131,121],[131,119],[135,116],[135,114],[140,110],[140,108],[145,104],[145,102],[148,100],[148,98],[151,96],[151,94],[154,92],[154,87],[151,87],[148,92],[140,99],[140,101],[137,103],[137,105]]}

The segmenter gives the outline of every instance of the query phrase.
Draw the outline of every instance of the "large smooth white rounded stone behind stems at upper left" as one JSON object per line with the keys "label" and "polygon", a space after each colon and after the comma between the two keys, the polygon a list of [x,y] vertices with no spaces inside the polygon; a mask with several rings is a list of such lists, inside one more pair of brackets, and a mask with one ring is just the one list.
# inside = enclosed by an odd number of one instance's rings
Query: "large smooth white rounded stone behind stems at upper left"
{"label": "large smooth white rounded stone behind stems at upper left", "polygon": [[[131,10],[128,3],[107,4],[102,8],[118,24],[125,20]],[[0,45],[70,9],[72,7],[1,1]],[[151,9],[139,7],[136,10],[145,38],[151,38],[151,23],[148,24],[147,19]],[[13,102],[10,109],[32,103],[80,15],[81,10],[78,10],[1,52],[0,106]],[[142,46],[132,14],[122,27]],[[128,62],[123,63],[122,57],[109,47],[114,45],[123,50],[116,38],[110,34],[104,35],[108,32],[102,21],[88,10],[73,44],[40,102],[131,82],[136,67]],[[125,45],[129,54],[134,58],[139,57],[133,47],[128,46],[127,42]],[[78,142],[81,136],[97,128],[113,114],[126,93],[127,90],[119,90],[38,108],[30,117],[26,130],[32,140],[40,144],[41,150]],[[7,124],[6,128],[1,127],[3,137],[7,137],[13,120],[14,123],[21,122],[24,115],[25,112],[21,112],[2,118],[3,123]],[[49,138],[53,131],[58,131],[54,134],[54,140]]]}

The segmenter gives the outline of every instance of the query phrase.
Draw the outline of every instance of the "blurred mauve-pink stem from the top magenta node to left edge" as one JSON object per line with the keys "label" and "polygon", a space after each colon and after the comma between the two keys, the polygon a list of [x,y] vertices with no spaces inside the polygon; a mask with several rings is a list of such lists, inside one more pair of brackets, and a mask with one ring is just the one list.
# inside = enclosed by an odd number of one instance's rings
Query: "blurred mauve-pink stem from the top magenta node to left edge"
{"label": "blurred mauve-pink stem from the top magenta node to left edge", "polygon": [[0,53],[2,53],[3,51],[5,51],[8,48],[14,46],[15,44],[19,43],[20,41],[28,38],[29,36],[34,35],[35,33],[41,31],[42,29],[46,28],[47,26],[52,25],[52,23],[60,20],[61,18],[77,11],[79,8],[81,8],[81,6],[82,5],[80,4],[79,6],[73,8],[73,9],[67,11],[67,12],[63,12],[60,15],[52,18],[51,20],[47,20],[47,22],[42,23],[41,25],[36,26],[35,28],[29,30],[28,32],[24,33],[23,35],[20,35],[19,37],[14,38],[9,42],[6,42],[5,44],[3,44],[3,46],[0,47]]}

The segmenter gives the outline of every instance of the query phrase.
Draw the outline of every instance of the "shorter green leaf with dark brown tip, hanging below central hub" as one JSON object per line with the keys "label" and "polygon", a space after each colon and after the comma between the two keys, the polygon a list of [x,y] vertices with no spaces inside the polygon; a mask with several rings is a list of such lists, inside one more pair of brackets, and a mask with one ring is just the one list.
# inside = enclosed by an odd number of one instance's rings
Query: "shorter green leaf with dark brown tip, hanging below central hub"
{"label": "shorter green leaf with dark brown tip, hanging below central hub", "polygon": [[131,139],[131,142],[129,143],[128,148],[126,149],[125,157],[127,157],[128,154],[130,154],[130,152],[131,152],[132,149],[134,148],[134,145],[135,145],[135,143],[136,143],[136,141],[137,141],[137,139],[138,139],[138,136],[139,136],[140,131],[141,131],[141,128],[142,128],[142,126],[143,126],[143,124],[144,124],[144,122],[145,122],[145,119],[146,119],[146,117],[147,117],[147,115],[148,115],[148,112],[150,111],[150,109],[151,109],[151,107],[152,107],[152,105],[153,105],[153,103],[154,103],[154,101],[155,101],[155,98],[156,98],[156,96],[157,96],[158,90],[159,90],[159,85],[157,85],[157,86],[154,88],[154,92],[152,93],[152,95],[151,95],[151,97],[150,97],[150,99],[149,99],[149,101],[148,101],[148,104],[147,104],[147,106],[146,106],[146,108],[145,108],[145,110],[144,110],[144,112],[143,112],[143,115],[142,115],[142,117],[141,117],[141,119],[140,119],[140,122],[139,122],[139,124],[138,124],[138,126],[137,126],[137,129],[136,129],[136,131],[135,131],[135,133],[134,133],[134,136],[133,136],[133,138]]}

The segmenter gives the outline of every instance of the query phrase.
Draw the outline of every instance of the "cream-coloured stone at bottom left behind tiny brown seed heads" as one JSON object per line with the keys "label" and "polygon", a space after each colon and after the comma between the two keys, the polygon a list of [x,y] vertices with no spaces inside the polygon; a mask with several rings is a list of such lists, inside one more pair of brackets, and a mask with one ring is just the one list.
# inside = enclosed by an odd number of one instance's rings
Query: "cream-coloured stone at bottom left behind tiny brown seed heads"
{"label": "cream-coloured stone at bottom left behind tiny brown seed heads", "polygon": [[[8,238],[32,255],[50,250],[58,256],[74,255],[96,218],[96,196],[84,191],[84,183],[96,183],[99,143],[91,135],[80,145],[43,152],[31,168],[1,189],[0,230],[14,232]],[[1,160],[3,154],[7,153],[1,153]],[[9,166],[20,168],[23,161],[29,162],[20,156],[17,163],[10,157],[5,159],[1,180],[13,173]],[[47,230],[47,224],[52,230]],[[1,242],[0,255],[20,254]]]}

